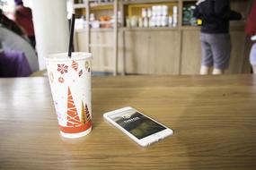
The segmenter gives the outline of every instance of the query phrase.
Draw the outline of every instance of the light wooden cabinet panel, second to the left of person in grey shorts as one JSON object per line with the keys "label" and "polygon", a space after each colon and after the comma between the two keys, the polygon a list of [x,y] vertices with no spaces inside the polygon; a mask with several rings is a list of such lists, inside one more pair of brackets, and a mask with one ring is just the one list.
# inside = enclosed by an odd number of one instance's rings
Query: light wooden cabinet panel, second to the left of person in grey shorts
{"label": "light wooden cabinet panel, second to the left of person in grey shorts", "polygon": [[149,73],[179,74],[180,31],[156,30],[150,33]]}

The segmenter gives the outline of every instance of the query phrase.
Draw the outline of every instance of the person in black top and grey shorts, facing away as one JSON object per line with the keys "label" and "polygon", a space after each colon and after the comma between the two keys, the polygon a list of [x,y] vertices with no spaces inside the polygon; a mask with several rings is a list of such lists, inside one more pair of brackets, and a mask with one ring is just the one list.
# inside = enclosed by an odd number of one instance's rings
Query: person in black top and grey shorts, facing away
{"label": "person in black top and grey shorts, facing away", "polygon": [[229,21],[241,20],[242,15],[230,9],[229,0],[199,0],[194,15],[202,20],[200,74],[209,74],[212,66],[213,74],[223,74],[231,53]]}

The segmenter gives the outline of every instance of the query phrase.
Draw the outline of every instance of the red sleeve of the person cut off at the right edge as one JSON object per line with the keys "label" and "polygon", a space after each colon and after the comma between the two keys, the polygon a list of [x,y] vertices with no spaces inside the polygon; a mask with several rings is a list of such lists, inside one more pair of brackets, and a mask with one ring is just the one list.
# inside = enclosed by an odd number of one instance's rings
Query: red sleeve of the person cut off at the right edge
{"label": "red sleeve of the person cut off at the right edge", "polygon": [[251,13],[248,15],[245,32],[249,36],[256,35],[256,0],[253,0],[252,9]]}

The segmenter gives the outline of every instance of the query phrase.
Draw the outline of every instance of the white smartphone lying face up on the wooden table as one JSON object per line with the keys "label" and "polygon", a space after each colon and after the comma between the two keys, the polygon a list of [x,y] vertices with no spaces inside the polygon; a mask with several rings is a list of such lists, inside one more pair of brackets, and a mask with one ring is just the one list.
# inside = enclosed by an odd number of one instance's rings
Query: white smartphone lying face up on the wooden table
{"label": "white smartphone lying face up on the wooden table", "polygon": [[130,106],[105,113],[103,117],[143,147],[163,140],[173,133],[172,129]]}

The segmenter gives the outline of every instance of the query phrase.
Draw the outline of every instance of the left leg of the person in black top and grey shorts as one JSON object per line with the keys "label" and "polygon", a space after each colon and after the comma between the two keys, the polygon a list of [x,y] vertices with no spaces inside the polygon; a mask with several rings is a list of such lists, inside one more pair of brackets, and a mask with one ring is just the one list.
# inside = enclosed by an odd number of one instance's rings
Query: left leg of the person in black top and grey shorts
{"label": "left leg of the person in black top and grey shorts", "polygon": [[200,74],[209,74],[210,67],[213,64],[213,55],[210,45],[207,43],[207,34],[201,33],[201,48],[202,48],[202,60]]}

